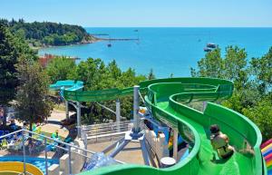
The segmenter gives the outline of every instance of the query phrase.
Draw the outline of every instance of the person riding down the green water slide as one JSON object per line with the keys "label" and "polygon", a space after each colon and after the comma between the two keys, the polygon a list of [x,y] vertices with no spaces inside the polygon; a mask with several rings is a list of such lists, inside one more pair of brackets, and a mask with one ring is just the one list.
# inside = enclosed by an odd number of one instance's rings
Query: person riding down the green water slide
{"label": "person riding down the green water slide", "polygon": [[211,132],[211,145],[218,152],[219,158],[227,159],[230,157],[234,152],[234,148],[228,145],[228,136],[220,131],[217,124],[211,125],[209,131]]}

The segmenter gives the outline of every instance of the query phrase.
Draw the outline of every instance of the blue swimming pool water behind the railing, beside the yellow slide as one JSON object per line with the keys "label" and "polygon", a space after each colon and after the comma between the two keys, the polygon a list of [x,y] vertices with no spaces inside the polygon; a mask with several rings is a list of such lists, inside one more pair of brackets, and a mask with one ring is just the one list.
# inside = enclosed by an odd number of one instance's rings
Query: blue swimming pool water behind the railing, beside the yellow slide
{"label": "blue swimming pool water behind the railing, beside the yellow slide", "polygon": [[[23,156],[3,156],[0,157],[0,161],[24,161]],[[34,158],[34,157],[25,157],[26,163],[33,164],[40,170],[42,170],[45,174],[45,159],[44,158]],[[53,164],[59,164],[59,160],[56,159],[48,159],[47,165],[48,168]]]}

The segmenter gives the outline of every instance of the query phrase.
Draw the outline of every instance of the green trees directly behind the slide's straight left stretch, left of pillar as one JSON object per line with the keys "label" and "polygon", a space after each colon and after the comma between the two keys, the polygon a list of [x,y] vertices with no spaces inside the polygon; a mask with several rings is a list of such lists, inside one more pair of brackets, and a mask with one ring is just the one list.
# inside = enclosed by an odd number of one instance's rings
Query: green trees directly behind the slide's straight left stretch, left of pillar
{"label": "green trees directly behind the slide's straight left stretch, left of pillar", "polygon": [[[101,59],[89,58],[85,62],[78,64],[76,69],[77,80],[84,82],[87,91],[95,91],[109,88],[125,88],[131,87],[143,80],[142,75],[136,76],[134,70],[129,68],[125,72],[121,72],[115,61],[105,65]],[[121,101],[121,116],[127,119],[131,118],[132,97],[123,97]],[[102,102],[115,111],[115,102]],[[89,111],[85,112],[83,122],[99,123],[115,120],[115,115],[102,109],[95,102],[87,104]]]}

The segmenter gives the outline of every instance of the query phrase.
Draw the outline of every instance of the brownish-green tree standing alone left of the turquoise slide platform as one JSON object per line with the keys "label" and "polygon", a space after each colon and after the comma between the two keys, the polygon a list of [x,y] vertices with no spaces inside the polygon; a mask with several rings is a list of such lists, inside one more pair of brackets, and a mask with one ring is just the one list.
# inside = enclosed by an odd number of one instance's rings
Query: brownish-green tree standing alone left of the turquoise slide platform
{"label": "brownish-green tree standing alone left of the turquoise slide platform", "polygon": [[18,91],[16,93],[16,118],[28,122],[30,131],[35,122],[44,122],[53,109],[48,98],[48,76],[33,60],[22,58],[18,63]]}

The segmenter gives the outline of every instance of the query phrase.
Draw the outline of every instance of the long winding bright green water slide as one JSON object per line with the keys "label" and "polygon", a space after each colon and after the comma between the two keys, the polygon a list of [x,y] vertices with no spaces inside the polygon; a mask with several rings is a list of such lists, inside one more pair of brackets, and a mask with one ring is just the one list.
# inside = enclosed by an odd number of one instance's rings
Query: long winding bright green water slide
{"label": "long winding bright green water slide", "polygon": [[[189,143],[189,155],[170,168],[123,164],[82,172],[81,175],[262,175],[267,174],[259,146],[257,126],[238,112],[219,104],[232,95],[233,83],[211,78],[172,78],[141,82],[141,92],[152,116],[177,128]],[[97,102],[131,95],[132,88],[97,92],[64,91],[70,101]],[[189,107],[190,102],[208,102],[204,112]],[[236,152],[228,160],[213,160],[209,126],[218,124],[228,134]]]}

